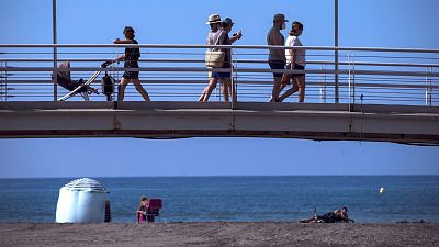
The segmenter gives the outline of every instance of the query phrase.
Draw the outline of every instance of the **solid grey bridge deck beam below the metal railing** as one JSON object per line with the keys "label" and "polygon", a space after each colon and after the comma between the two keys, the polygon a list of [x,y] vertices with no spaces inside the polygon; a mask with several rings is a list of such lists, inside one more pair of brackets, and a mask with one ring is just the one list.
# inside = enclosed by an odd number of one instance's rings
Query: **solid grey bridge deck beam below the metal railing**
{"label": "solid grey bridge deck beam below the metal railing", "polygon": [[282,137],[439,144],[439,108],[309,103],[0,102],[0,137]]}

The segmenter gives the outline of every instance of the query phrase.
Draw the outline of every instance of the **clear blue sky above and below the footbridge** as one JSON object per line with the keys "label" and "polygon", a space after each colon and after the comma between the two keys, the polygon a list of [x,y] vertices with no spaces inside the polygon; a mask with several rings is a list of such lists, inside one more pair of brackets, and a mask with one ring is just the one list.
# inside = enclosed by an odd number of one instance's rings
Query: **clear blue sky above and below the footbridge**
{"label": "clear blue sky above and below the footbridge", "polygon": [[[439,48],[437,0],[339,4],[340,46]],[[243,30],[240,44],[264,44],[272,15],[283,12],[305,24],[303,43],[331,46],[333,7],[333,0],[58,0],[58,43],[110,43],[122,36],[123,26],[133,25],[144,44],[203,44],[206,16],[216,12]],[[0,30],[2,44],[52,43],[52,0],[1,0]],[[438,147],[389,143],[0,139],[0,177],[439,175],[438,160]]]}

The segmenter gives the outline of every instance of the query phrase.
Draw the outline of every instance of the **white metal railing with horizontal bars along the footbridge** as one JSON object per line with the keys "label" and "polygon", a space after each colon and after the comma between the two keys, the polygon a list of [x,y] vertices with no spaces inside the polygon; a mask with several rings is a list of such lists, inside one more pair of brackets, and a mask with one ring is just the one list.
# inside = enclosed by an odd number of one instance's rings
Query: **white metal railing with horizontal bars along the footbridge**
{"label": "white metal railing with horizontal bars along the footbridge", "polygon": [[[68,91],[54,87],[54,71],[71,71],[74,80],[88,79],[99,66],[133,45],[0,45],[0,101],[53,101]],[[204,66],[207,45],[138,45],[140,81],[153,101],[196,101],[207,85]],[[216,46],[230,48],[236,101],[267,102],[273,85],[269,49],[283,46]],[[439,105],[439,49],[313,47],[307,46],[305,102]],[[336,66],[334,52],[338,50]],[[54,56],[54,52],[56,56]],[[54,57],[56,60],[54,60]],[[69,60],[70,69],[54,68]],[[338,69],[336,69],[338,68]],[[117,81],[123,63],[104,69]],[[226,71],[228,69],[213,69]],[[338,75],[336,80],[335,75]],[[102,76],[92,87],[100,88]],[[336,90],[338,89],[338,90]],[[71,101],[82,98],[74,97]],[[104,101],[103,96],[90,96]],[[128,86],[125,101],[142,100]],[[219,87],[211,101],[222,101]],[[288,99],[296,102],[296,96]]]}

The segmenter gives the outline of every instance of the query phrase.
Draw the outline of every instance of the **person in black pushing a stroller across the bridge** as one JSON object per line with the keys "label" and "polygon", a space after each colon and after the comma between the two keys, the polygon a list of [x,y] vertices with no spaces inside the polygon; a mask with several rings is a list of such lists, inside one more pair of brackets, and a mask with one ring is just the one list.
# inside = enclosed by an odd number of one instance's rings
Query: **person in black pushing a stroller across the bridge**
{"label": "person in black pushing a stroller across the bridge", "polygon": [[[135,31],[131,26],[125,26],[123,34],[125,35],[125,40],[116,38],[113,41],[114,44],[138,44],[136,40],[134,40]],[[124,60],[124,68],[138,68],[138,58],[140,57],[140,49],[138,47],[126,47],[125,54],[111,60],[111,63]],[[109,63],[109,64],[111,64]],[[121,83],[119,85],[119,93],[117,93],[117,102],[122,102],[124,99],[125,88],[133,81],[136,90],[142,94],[146,102],[149,102],[149,96],[146,90],[142,87],[142,82],[138,79],[138,71],[125,71]]]}

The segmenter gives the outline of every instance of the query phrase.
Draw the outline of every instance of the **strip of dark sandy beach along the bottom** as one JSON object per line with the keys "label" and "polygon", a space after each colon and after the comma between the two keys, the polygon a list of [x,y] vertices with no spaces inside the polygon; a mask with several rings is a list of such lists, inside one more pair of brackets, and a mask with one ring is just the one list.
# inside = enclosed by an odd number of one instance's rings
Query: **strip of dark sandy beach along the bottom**
{"label": "strip of dark sandy beach along the bottom", "polygon": [[0,246],[439,246],[439,224],[0,224]]}

